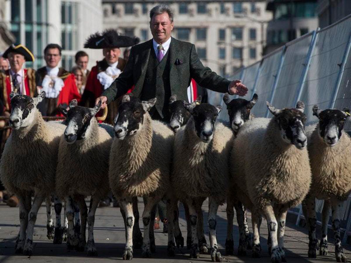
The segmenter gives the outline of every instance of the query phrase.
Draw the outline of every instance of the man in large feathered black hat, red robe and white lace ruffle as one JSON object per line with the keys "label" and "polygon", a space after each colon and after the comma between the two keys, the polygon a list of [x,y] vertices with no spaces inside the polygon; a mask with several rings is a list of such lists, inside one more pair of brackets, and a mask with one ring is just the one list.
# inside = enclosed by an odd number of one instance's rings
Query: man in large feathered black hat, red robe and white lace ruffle
{"label": "man in large feathered black hat, red robe and white lace ruffle", "polygon": [[[116,30],[108,29],[102,34],[91,35],[84,47],[102,49],[104,59],[97,61],[97,65],[91,69],[87,83],[81,99],[81,105],[93,107],[95,99],[110,87],[111,83],[124,70],[126,61],[120,58],[121,47],[130,47],[139,42],[138,38],[119,35]],[[113,124],[114,116],[117,114],[118,100],[111,103],[108,108],[107,123]]]}

